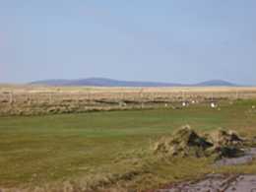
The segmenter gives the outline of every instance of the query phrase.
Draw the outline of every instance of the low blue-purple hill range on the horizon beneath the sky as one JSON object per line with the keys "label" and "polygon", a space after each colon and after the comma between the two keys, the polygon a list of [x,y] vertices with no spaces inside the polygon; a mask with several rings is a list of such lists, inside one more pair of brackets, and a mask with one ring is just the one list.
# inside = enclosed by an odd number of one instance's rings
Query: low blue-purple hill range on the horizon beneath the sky
{"label": "low blue-purple hill range on the horizon beneath the sky", "polygon": [[78,80],[42,80],[30,85],[45,86],[93,86],[93,87],[230,87],[236,86],[223,80],[211,80],[198,84],[175,84],[160,82],[119,81],[107,78],[88,78]]}

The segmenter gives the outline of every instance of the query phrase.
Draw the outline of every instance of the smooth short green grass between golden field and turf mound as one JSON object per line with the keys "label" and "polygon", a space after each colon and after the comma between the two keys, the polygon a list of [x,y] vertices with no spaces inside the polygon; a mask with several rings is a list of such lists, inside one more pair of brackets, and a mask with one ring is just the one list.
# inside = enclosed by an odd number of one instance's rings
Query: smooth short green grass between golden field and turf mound
{"label": "smooth short green grass between golden field and turf mound", "polygon": [[199,130],[224,127],[254,136],[253,104],[253,100],[225,102],[221,110],[191,105],[184,109],[0,117],[0,186],[119,171],[116,160],[131,160],[133,153],[147,151],[152,141],[184,124]]}

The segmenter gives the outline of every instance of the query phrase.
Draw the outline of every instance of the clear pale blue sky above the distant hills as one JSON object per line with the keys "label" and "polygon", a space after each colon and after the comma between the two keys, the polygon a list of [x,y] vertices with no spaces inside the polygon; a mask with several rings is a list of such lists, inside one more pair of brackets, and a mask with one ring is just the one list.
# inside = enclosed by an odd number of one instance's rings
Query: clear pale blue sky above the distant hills
{"label": "clear pale blue sky above the distant hills", "polygon": [[255,0],[0,0],[0,83],[256,85]]}

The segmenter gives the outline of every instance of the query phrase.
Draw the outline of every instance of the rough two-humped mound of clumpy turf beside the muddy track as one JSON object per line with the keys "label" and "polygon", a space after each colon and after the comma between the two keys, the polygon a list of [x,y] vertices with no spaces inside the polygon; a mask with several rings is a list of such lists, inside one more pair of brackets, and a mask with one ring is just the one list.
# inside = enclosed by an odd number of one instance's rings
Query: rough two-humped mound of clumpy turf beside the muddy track
{"label": "rough two-humped mound of clumpy turf beside the muddy track", "polygon": [[219,129],[207,135],[199,135],[186,125],[170,137],[161,138],[154,146],[154,153],[168,157],[232,158],[243,155],[245,140],[233,131]]}

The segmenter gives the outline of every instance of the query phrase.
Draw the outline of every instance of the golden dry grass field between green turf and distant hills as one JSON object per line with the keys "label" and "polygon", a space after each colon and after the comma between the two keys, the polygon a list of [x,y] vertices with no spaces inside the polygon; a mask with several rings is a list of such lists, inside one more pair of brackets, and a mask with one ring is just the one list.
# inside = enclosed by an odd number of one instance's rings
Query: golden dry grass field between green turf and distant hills
{"label": "golden dry grass field between green turf and distant hills", "polygon": [[0,86],[0,115],[179,107],[181,102],[256,98],[254,87],[96,88]]}

